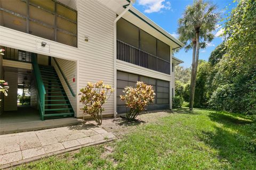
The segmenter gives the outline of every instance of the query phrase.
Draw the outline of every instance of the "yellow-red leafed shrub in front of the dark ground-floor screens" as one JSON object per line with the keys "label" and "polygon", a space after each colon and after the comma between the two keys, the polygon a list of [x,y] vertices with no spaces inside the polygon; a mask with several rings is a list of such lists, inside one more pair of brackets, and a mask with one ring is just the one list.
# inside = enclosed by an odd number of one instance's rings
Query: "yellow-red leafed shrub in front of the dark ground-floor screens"
{"label": "yellow-red leafed shrub in front of the dark ground-floor screens", "polygon": [[123,92],[125,95],[120,95],[121,100],[130,108],[130,111],[126,112],[128,120],[134,120],[140,112],[145,111],[145,107],[148,103],[153,103],[155,97],[153,87],[141,81],[137,81],[135,88],[126,87]]}

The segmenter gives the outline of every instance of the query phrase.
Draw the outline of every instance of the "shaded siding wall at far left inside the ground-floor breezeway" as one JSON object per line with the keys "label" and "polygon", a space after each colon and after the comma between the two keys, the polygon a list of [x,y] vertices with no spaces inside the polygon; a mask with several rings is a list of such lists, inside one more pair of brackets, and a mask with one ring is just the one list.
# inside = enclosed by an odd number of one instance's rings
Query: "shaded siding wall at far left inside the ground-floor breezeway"
{"label": "shaded siding wall at far left inside the ground-floor breezeway", "polygon": [[4,96],[4,111],[17,111],[18,73],[5,72],[4,79],[8,82],[8,96]]}

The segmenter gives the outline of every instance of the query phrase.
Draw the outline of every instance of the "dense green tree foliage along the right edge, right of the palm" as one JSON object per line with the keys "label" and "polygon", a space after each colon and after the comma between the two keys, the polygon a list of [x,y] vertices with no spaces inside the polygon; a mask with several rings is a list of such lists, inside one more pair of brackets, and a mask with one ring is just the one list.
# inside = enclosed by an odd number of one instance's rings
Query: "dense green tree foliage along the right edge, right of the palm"
{"label": "dense green tree foliage along the right edge, right of the palm", "polygon": [[256,1],[238,1],[225,26],[225,47],[221,52],[224,50],[226,53],[214,66],[212,107],[256,114],[255,35]]}

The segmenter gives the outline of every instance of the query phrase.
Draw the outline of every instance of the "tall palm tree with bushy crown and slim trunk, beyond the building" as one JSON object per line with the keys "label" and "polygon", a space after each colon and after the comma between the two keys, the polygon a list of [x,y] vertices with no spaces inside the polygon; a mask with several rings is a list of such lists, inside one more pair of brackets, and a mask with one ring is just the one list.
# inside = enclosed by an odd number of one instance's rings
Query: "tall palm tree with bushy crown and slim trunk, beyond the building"
{"label": "tall palm tree with bushy crown and slim trunk, beyond the building", "polygon": [[193,110],[196,74],[199,58],[199,48],[205,48],[213,40],[212,31],[219,19],[215,12],[216,5],[211,5],[203,0],[195,0],[193,5],[187,6],[182,18],[179,20],[179,39],[185,43],[186,52],[193,48],[189,109]]}

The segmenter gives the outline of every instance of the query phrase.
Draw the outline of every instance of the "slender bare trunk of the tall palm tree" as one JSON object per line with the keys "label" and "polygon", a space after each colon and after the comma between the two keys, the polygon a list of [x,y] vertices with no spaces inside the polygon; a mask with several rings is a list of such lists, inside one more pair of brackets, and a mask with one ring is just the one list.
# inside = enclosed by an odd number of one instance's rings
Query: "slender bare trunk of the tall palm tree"
{"label": "slender bare trunk of the tall palm tree", "polygon": [[197,66],[198,66],[198,58],[199,58],[199,29],[196,30],[196,57],[195,57],[195,66],[194,66],[194,71],[191,73],[191,81],[190,84],[190,96],[189,96],[189,110],[193,110],[194,106],[194,97],[195,97],[195,88],[196,88],[196,74],[197,74]]}

